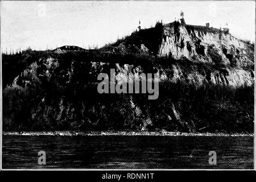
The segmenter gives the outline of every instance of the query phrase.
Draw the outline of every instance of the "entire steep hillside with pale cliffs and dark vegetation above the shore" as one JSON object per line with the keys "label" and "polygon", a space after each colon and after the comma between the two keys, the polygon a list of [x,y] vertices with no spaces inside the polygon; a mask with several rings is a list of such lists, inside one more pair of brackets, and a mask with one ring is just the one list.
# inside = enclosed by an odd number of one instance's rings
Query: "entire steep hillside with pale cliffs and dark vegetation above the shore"
{"label": "entire steep hillside with pale cliffs and dark vegetation above the shore", "polygon": [[[3,130],[253,132],[254,45],[172,22],[100,49],[2,55]],[[97,76],[158,73],[159,98],[99,94]]]}

